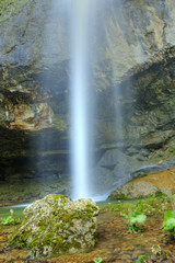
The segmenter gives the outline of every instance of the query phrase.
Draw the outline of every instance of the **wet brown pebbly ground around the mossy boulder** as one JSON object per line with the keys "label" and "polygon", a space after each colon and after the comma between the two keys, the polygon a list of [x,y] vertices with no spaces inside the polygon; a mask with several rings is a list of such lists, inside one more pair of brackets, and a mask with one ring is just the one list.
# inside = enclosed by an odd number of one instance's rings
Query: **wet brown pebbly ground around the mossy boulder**
{"label": "wet brown pebbly ground around the mossy boulder", "polygon": [[[168,232],[162,231],[163,211],[172,209],[166,198],[156,198],[149,203],[147,222],[139,233],[127,231],[126,220],[120,215],[125,208],[108,204],[101,209],[97,219],[97,243],[89,253],[62,255],[47,260],[30,260],[27,251],[9,249],[7,241],[15,227],[0,227],[0,263],[93,263],[94,258],[102,258],[104,263],[133,263],[141,254],[152,255],[152,245],[161,247],[162,259],[159,262],[175,262],[175,240]],[[114,211],[115,207],[115,211]],[[118,210],[117,210],[118,207]],[[119,208],[120,207],[120,208]],[[143,207],[142,207],[143,208]],[[103,210],[104,209],[104,210]]]}

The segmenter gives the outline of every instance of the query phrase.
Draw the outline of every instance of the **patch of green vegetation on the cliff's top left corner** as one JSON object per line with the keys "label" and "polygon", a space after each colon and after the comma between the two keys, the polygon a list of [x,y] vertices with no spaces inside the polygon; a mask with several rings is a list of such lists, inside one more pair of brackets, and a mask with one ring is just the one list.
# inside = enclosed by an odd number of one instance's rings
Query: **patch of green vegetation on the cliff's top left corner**
{"label": "patch of green vegetation on the cliff's top left corner", "polygon": [[1,0],[0,1],[0,22],[11,18],[28,0]]}

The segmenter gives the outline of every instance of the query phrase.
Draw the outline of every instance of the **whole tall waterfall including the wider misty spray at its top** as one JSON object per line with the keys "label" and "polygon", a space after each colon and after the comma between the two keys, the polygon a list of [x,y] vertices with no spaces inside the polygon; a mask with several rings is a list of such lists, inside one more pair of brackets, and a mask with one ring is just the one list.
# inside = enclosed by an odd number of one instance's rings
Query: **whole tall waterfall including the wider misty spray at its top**
{"label": "whole tall waterfall including the wider misty spray at its top", "polygon": [[[70,196],[73,199],[95,196],[96,182],[93,179],[94,161],[94,68],[102,47],[97,50],[98,36],[95,31],[101,27],[97,20],[104,1],[96,0],[52,0],[52,16],[47,25],[47,46],[52,65],[59,56],[69,56],[69,112],[70,112]],[[97,18],[96,18],[97,16]],[[62,31],[65,24],[65,31]],[[51,32],[51,34],[50,34]],[[63,39],[59,39],[59,32]],[[103,31],[100,30],[102,37]],[[54,39],[52,36],[54,35]],[[63,43],[68,43],[66,55],[61,53]],[[65,48],[62,48],[65,49]],[[56,56],[55,56],[56,55]],[[102,59],[102,57],[101,57]],[[98,193],[100,194],[100,193]]]}

